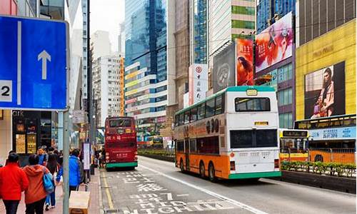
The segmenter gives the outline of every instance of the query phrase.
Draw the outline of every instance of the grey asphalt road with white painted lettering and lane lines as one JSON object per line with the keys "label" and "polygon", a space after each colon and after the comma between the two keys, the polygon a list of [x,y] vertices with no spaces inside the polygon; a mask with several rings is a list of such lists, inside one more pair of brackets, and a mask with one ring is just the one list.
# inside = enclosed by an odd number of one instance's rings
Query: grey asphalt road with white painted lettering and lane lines
{"label": "grey asphalt road with white painted lettering and lane lines", "polygon": [[106,213],[356,213],[353,194],[263,178],[211,183],[141,156],[136,170],[101,171],[101,198]]}

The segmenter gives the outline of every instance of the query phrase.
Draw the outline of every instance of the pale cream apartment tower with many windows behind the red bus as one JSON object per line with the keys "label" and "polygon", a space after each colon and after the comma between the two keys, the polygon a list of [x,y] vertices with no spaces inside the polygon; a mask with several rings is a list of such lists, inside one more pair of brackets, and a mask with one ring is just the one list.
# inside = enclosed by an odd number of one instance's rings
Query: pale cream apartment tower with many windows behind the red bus
{"label": "pale cream apartment tower with many windows behind the red bus", "polygon": [[101,56],[92,64],[96,124],[104,127],[108,116],[120,115],[121,56]]}

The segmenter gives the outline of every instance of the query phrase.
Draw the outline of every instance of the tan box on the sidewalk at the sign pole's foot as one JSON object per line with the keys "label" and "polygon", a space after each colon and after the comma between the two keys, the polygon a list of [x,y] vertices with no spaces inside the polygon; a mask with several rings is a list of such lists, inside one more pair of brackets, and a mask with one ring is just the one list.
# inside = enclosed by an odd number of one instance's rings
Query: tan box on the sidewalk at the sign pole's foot
{"label": "tan box on the sidewalk at the sign pole's foot", "polygon": [[69,198],[70,214],[88,214],[90,192],[71,191]]}

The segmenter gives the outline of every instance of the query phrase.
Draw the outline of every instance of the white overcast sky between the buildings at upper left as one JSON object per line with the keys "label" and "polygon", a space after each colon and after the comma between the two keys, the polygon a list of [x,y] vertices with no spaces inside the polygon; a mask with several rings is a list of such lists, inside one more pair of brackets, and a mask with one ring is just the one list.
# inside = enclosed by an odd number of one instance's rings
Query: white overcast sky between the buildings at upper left
{"label": "white overcast sky between the buildings at upper left", "polygon": [[[119,24],[125,18],[124,5],[125,0],[91,0],[91,34],[99,30],[109,31],[111,51],[118,51]],[[81,9],[78,12],[77,15],[81,14]],[[78,20],[75,21],[75,29],[81,28]]]}

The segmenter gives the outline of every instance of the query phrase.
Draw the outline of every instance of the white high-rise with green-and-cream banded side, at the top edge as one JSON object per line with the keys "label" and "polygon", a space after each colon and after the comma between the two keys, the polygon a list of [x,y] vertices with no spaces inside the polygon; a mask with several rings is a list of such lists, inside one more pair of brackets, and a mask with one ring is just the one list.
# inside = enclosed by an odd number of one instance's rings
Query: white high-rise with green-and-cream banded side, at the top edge
{"label": "white high-rise with green-and-cream banded side, at the top edge", "polygon": [[209,1],[208,53],[210,57],[228,41],[252,37],[251,34],[254,34],[256,29],[255,6],[253,0]]}

